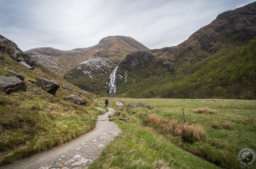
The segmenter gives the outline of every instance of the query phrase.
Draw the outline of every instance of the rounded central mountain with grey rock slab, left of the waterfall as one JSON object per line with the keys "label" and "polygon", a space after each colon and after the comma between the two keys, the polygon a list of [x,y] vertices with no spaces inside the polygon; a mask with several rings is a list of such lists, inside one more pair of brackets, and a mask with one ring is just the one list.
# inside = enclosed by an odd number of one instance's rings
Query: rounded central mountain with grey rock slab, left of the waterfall
{"label": "rounded central mountain with grey rock slab, left of the waterfall", "polygon": [[64,75],[64,79],[95,94],[109,89],[109,75],[124,60],[127,53],[148,50],[138,41],[125,36],[108,36],[99,44],[89,47],[76,67]]}

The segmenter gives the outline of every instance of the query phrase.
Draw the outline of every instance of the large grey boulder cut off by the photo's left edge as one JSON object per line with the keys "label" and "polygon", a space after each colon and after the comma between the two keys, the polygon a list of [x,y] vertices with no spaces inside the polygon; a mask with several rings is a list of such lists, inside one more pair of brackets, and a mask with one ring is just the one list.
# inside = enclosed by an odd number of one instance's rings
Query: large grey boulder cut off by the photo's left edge
{"label": "large grey boulder cut off by the photo's left edge", "polygon": [[26,92],[26,89],[26,83],[19,78],[0,76],[0,90],[4,93],[9,95],[17,91]]}

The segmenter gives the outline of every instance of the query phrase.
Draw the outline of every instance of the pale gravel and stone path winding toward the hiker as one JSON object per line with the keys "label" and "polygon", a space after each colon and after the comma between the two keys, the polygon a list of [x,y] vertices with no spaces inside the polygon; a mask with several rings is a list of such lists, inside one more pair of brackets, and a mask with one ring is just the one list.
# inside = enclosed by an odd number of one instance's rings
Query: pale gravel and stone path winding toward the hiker
{"label": "pale gravel and stone path winding toward the hiker", "polygon": [[[81,157],[89,159],[89,161],[98,158],[102,149],[121,132],[114,122],[108,120],[108,115],[114,109],[109,107],[108,110],[105,114],[98,116],[97,124],[92,131],[51,150],[5,165],[1,169],[38,169],[41,166],[49,169],[86,167],[84,163],[76,166],[71,166],[71,164],[64,165],[64,163],[70,159],[74,159],[75,162],[80,161]],[[74,158],[75,155],[78,155],[78,158]]]}

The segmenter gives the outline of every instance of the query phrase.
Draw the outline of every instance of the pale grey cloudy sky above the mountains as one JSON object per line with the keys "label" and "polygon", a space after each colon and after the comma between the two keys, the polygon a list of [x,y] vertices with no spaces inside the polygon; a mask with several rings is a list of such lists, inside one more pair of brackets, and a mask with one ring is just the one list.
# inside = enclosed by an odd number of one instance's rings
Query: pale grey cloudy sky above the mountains
{"label": "pale grey cloudy sky above the mountains", "polygon": [[253,0],[0,0],[0,34],[22,51],[71,50],[107,36],[176,46],[220,13]]}

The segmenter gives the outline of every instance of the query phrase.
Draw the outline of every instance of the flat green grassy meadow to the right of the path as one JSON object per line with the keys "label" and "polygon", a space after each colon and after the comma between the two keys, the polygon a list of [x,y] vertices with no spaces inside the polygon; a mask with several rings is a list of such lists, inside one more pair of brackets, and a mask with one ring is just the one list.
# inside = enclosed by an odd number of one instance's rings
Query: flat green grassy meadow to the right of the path
{"label": "flat green grassy meadow to the right of the path", "polygon": [[[256,152],[255,100],[109,99],[129,119],[114,119],[123,132],[90,168],[240,168],[239,151]],[[154,109],[117,107],[115,101],[147,102]]]}

